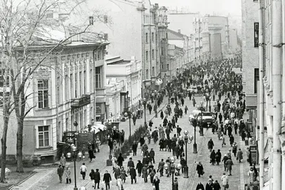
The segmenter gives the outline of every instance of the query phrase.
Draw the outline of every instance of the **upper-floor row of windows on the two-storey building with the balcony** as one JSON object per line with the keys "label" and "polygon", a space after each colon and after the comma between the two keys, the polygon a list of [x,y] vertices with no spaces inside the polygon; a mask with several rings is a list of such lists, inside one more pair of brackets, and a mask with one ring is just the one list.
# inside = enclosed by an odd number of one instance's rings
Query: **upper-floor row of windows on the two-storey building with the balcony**
{"label": "upper-floor row of windows on the two-storey building with the balcony", "polygon": [[[93,69],[90,69],[90,91],[93,92]],[[64,78],[64,89],[65,89],[65,100],[70,100],[75,97],[80,97],[81,95],[86,94],[86,70],[78,73],[71,73],[70,75],[65,75]],[[73,82],[74,81],[74,82]],[[61,85],[61,78],[58,78],[57,81],[57,100],[58,103],[63,102],[63,90]],[[95,88],[102,88],[102,66],[95,68]],[[79,89],[78,89],[79,88]],[[71,94],[69,94],[71,92]],[[49,107],[49,80],[38,80],[38,108],[48,108]]]}

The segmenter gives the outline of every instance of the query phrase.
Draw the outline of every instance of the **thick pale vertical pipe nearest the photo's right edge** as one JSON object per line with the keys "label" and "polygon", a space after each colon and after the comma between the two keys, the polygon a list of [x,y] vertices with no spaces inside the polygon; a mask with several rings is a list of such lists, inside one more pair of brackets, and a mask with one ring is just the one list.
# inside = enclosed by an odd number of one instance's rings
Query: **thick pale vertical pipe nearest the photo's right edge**
{"label": "thick pale vertical pipe nearest the photo's right edge", "polygon": [[281,189],[281,64],[282,4],[272,1],[272,82],[273,82],[273,189]]}

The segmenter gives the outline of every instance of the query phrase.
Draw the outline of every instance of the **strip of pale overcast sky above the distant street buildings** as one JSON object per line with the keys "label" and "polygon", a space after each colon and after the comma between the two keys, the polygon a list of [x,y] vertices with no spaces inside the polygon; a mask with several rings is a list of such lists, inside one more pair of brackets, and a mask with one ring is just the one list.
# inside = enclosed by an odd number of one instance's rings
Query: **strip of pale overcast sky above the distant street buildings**
{"label": "strip of pale overcast sky above the distant street buildings", "polygon": [[173,9],[188,9],[191,12],[199,11],[201,14],[231,14],[242,15],[241,0],[150,0],[151,4],[171,6]]}

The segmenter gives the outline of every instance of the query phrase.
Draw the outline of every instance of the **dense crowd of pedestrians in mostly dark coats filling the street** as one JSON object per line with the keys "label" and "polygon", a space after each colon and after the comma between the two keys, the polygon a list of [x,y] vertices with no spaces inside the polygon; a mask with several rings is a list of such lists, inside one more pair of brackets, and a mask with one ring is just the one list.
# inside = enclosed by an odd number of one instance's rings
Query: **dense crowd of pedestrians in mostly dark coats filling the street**
{"label": "dense crowd of pedestrians in mostly dark coats filling the street", "polygon": [[[155,150],[153,148],[149,149],[151,140],[153,140],[155,146],[159,147],[160,152],[172,152],[172,157],[180,160],[180,167],[176,167],[173,174],[175,175],[173,189],[178,189],[178,176],[180,176],[180,171],[184,173],[187,162],[185,160],[185,140],[181,136],[182,128],[180,125],[177,125],[177,123],[180,118],[187,115],[188,107],[192,105],[195,107],[196,105],[195,96],[197,96],[197,94],[187,90],[193,85],[199,86],[199,95],[213,97],[214,105],[212,107],[209,106],[209,112],[213,113],[213,118],[215,119],[211,127],[212,133],[217,134],[217,139],[210,139],[207,143],[207,147],[209,149],[210,163],[219,166],[222,162],[221,178],[214,180],[212,176],[209,176],[209,180],[205,184],[201,182],[197,184],[196,190],[229,188],[234,159],[237,159],[237,165],[243,162],[244,159],[242,147],[239,147],[237,144],[237,142],[239,142],[237,141],[239,140],[237,139],[237,134],[239,134],[242,140],[245,140],[246,137],[251,137],[248,125],[249,120],[244,122],[243,119],[244,112],[246,112],[246,102],[242,94],[242,76],[232,72],[233,66],[234,61],[231,59],[211,61],[185,70],[184,73],[178,75],[177,78],[174,78],[170,83],[167,83],[165,89],[160,92],[169,99],[165,110],[160,112],[161,123],[154,124],[152,120],[150,120],[147,124],[147,134],[142,134],[139,142],[133,142],[133,157],[141,157],[141,159],[138,160],[138,163],[135,163],[133,162],[133,158],[130,157],[126,166],[123,166],[125,159],[122,154],[119,154],[118,157],[113,155],[111,159],[113,165],[112,173],[118,190],[123,188],[123,184],[128,176],[130,176],[131,184],[136,184],[138,180],[142,178],[145,183],[150,182],[153,189],[159,190],[160,178],[163,176],[170,177],[172,175],[170,171],[172,158],[168,156],[165,159],[160,159],[160,161],[156,163]],[[192,100],[192,105],[185,105],[185,98],[187,97]],[[149,110],[151,112],[151,109]],[[135,117],[135,119],[133,118],[134,125],[135,120],[137,120],[137,117]],[[123,134],[123,132],[114,132],[108,138],[110,154],[113,154],[113,151],[116,149],[117,142],[123,143],[124,135],[121,134]],[[236,136],[236,139],[234,136]],[[227,137],[229,142],[227,142]],[[214,144],[218,142],[222,144],[222,147],[230,146],[230,149],[224,153],[222,153],[221,149],[217,149],[216,151]],[[140,152],[137,155],[138,147],[140,147]],[[224,156],[222,157],[222,155]],[[247,150],[247,161],[250,165],[252,165],[251,160],[250,152]],[[224,171],[222,169],[224,169]],[[81,169],[82,175],[87,169],[83,167],[83,170]],[[205,171],[202,162],[197,164],[196,170],[198,177],[204,175]],[[225,171],[227,171],[227,174]],[[208,173],[209,171],[206,172]],[[257,181],[258,172],[255,166],[249,170],[248,175],[251,183]],[[90,179],[93,180],[94,189],[96,187],[99,189],[99,169],[95,169],[95,171],[92,169],[89,176]],[[85,179],[85,174],[83,175],[83,179]],[[103,181],[105,182],[106,190],[110,189],[111,180],[111,174],[109,174],[108,170],[105,171]]]}

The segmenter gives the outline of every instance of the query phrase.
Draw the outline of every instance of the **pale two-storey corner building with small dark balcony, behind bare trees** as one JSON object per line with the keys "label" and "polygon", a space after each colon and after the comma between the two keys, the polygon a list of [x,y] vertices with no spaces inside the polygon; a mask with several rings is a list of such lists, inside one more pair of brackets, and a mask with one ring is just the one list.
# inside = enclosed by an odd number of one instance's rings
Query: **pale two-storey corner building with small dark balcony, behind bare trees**
{"label": "pale two-storey corner building with small dark balcony, behind bare trees", "polygon": [[[53,162],[63,133],[83,130],[95,118],[96,101],[101,98],[96,91],[104,86],[108,42],[88,38],[84,42],[72,38],[61,48],[61,53],[45,60],[43,65],[48,67],[38,67],[28,81],[31,85],[26,88],[26,93],[33,97],[27,100],[26,107],[35,107],[24,119],[24,161],[41,157],[42,163]],[[53,44],[31,47],[30,50],[41,52],[50,46]],[[74,122],[78,125],[73,125]],[[8,159],[15,160],[15,116],[11,117],[9,125],[7,155]]]}

